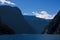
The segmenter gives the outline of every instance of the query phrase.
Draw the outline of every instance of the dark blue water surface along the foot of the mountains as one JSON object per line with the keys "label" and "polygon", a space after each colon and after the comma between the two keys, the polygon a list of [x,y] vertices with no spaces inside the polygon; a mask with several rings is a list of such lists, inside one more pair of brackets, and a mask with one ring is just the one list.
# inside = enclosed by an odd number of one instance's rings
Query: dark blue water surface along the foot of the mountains
{"label": "dark blue water surface along the foot of the mountains", "polygon": [[60,35],[42,35],[42,34],[0,35],[0,40],[60,40]]}

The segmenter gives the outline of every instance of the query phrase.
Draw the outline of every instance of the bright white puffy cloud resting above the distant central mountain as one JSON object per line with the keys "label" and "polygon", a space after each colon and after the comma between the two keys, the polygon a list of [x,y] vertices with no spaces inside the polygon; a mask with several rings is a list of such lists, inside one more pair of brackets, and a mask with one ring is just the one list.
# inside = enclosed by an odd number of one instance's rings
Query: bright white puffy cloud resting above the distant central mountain
{"label": "bright white puffy cloud resting above the distant central mountain", "polygon": [[46,11],[32,12],[38,18],[53,19],[55,15],[50,15]]}

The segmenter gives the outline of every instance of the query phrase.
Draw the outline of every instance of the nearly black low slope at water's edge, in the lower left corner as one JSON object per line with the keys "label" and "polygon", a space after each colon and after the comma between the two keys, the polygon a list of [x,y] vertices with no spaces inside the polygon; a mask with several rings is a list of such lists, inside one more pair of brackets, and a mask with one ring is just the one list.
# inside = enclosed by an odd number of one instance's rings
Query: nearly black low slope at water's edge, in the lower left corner
{"label": "nearly black low slope at water's edge, in the lower left corner", "polygon": [[0,24],[0,34],[15,34],[15,31],[5,24]]}

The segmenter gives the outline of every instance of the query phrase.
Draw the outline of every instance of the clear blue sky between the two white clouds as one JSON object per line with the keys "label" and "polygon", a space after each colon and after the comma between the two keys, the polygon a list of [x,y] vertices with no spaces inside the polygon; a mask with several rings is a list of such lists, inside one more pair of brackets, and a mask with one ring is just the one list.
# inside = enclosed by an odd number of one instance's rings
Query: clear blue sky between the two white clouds
{"label": "clear blue sky between the two white clouds", "polygon": [[15,0],[15,3],[23,13],[44,10],[53,15],[60,10],[60,0]]}

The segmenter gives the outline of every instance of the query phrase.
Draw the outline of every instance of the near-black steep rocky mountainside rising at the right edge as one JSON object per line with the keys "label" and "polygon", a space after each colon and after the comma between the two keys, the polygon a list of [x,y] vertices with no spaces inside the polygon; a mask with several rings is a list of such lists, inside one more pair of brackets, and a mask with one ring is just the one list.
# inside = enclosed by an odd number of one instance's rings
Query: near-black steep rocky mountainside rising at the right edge
{"label": "near-black steep rocky mountainside rising at the right edge", "polygon": [[44,34],[60,34],[60,11],[45,28]]}

